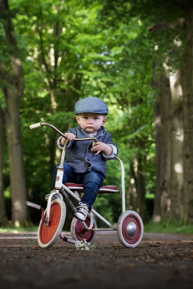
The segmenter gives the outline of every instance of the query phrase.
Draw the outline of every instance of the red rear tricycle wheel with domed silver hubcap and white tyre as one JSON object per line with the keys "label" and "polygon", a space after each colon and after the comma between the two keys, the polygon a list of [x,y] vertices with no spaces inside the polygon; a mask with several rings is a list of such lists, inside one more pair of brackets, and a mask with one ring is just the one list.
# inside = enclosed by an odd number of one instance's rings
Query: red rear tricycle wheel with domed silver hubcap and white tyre
{"label": "red rear tricycle wheel with domed silver hubcap and white tyre", "polygon": [[128,248],[137,247],[141,242],[144,226],[141,217],[135,211],[125,211],[119,217],[117,234],[121,244]]}

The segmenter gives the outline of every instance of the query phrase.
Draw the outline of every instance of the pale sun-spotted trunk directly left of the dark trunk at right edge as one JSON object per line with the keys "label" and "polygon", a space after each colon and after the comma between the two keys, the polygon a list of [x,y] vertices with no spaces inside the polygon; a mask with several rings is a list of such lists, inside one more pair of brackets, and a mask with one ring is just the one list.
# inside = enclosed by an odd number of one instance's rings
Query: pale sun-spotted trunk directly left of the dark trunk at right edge
{"label": "pale sun-spotted trunk directly left of the dark trunk at right edge", "polygon": [[182,216],[183,187],[183,118],[182,118],[182,87],[180,72],[170,76],[171,104],[171,179],[170,179],[170,220],[180,221]]}

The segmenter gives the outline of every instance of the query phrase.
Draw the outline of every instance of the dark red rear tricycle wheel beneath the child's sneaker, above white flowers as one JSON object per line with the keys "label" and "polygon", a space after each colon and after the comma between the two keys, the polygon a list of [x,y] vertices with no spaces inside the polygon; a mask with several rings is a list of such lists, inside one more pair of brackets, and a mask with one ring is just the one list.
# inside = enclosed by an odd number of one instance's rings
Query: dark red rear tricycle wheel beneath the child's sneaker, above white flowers
{"label": "dark red rear tricycle wheel beneath the child's sneaker, above white flowers", "polygon": [[[87,227],[90,226],[90,214],[87,215],[86,220],[84,221]],[[96,221],[94,219],[93,228],[96,229]],[[76,218],[72,219],[71,227],[70,227],[71,238],[76,241],[83,241],[86,240],[90,245],[93,244],[96,238],[96,231],[87,231],[85,230],[84,226],[82,225],[81,221],[77,220]]]}

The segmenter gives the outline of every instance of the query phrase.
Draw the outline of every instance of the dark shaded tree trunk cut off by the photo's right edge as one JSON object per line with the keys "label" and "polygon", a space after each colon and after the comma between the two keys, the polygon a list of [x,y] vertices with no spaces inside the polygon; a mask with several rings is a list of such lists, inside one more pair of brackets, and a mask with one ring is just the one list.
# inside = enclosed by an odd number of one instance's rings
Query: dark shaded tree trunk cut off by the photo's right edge
{"label": "dark shaded tree trunk cut off by the photo's right edge", "polygon": [[185,10],[187,39],[182,61],[183,90],[183,221],[193,223],[193,8]]}

